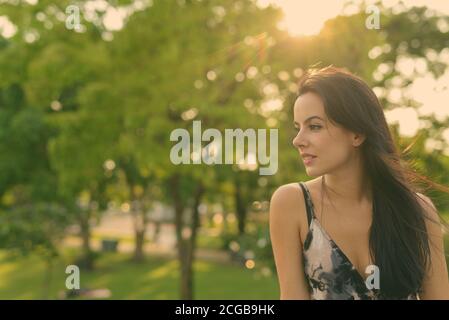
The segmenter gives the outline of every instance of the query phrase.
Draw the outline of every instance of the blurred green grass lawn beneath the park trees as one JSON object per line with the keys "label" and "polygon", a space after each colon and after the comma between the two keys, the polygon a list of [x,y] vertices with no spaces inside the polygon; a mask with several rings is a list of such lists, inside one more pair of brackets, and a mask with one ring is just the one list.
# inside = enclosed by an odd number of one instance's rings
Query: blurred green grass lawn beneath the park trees
{"label": "blurred green grass lawn beneath the park trees", "polygon": [[[70,255],[54,266],[51,299],[65,289],[65,267]],[[130,255],[105,253],[97,260],[97,269],[81,270],[81,288],[108,288],[112,299],[178,299],[177,261],[148,257],[142,264],[130,261]],[[278,299],[275,275],[256,278],[239,266],[197,261],[195,299]],[[43,292],[44,264],[38,257],[13,257],[0,251],[0,299],[40,299]]]}

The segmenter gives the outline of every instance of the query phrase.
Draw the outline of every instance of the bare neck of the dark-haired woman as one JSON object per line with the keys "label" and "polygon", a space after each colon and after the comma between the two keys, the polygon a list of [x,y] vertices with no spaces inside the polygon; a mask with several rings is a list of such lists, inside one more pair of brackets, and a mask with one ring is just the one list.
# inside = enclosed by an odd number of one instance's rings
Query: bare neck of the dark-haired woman
{"label": "bare neck of the dark-haired woman", "polygon": [[329,196],[337,196],[343,201],[364,202],[372,199],[369,179],[364,173],[363,163],[358,157],[345,167],[323,175]]}

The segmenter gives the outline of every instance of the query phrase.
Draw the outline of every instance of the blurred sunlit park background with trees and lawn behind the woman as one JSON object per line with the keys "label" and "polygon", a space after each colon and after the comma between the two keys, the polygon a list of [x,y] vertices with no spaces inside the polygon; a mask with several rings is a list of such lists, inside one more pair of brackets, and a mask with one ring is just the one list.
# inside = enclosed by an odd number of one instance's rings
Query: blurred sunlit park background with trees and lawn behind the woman
{"label": "blurred sunlit park background with trees and lawn behind the woman", "polygon": [[[443,0],[0,0],[0,298],[278,299],[269,200],[308,179],[298,79],[364,78],[448,186],[448,47]],[[279,129],[278,172],[172,164],[193,120]]]}

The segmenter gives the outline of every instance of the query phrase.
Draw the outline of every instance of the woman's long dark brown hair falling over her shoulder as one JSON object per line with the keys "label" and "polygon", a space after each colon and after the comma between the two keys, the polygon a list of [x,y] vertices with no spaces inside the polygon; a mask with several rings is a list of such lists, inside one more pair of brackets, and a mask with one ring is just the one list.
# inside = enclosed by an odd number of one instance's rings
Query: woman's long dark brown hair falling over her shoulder
{"label": "woman's long dark brown hair falling over her shoulder", "polygon": [[429,180],[401,160],[382,106],[361,78],[330,66],[308,71],[299,85],[299,95],[321,97],[332,123],[366,136],[361,153],[373,193],[369,247],[380,270],[380,295],[396,299],[419,293],[431,264],[425,219],[439,222],[426,214],[414,182]]}

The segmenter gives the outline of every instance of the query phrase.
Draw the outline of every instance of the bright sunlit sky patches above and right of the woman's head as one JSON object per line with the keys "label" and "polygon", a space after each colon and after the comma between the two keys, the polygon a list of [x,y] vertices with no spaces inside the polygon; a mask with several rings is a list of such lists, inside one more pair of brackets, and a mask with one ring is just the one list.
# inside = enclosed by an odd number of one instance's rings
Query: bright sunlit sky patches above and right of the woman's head
{"label": "bright sunlit sky patches above and right of the woman's head", "polygon": [[[292,36],[314,35],[319,33],[324,22],[339,14],[353,14],[356,12],[356,6],[346,6],[347,0],[258,0],[261,6],[274,4],[279,6],[284,12],[284,18],[280,28],[287,30]],[[360,1],[352,1],[360,2]],[[375,1],[368,1],[368,3]],[[383,0],[387,7],[393,6],[400,0]],[[403,2],[406,7],[427,6],[443,14],[449,15],[449,1],[447,0],[406,0]],[[381,21],[382,24],[382,21]],[[443,51],[438,57],[440,61],[449,64],[449,49]],[[421,62],[421,61],[419,61]],[[404,61],[399,69],[404,74],[413,72],[417,68],[418,61],[409,59]],[[421,64],[422,65],[422,64]],[[426,69],[426,68],[425,68]],[[424,70],[426,71],[426,70]],[[418,110],[413,108],[397,108],[386,112],[389,123],[398,123],[399,131],[404,136],[413,136],[416,131],[425,124],[418,119],[419,115],[434,114],[437,119],[444,120],[449,117],[449,71],[441,78],[435,80],[429,73],[423,72],[423,75],[417,77],[413,84],[407,88],[398,88],[393,91],[397,97],[410,97],[422,105]],[[389,96],[390,98],[390,96]],[[443,137],[449,142],[449,129],[443,133]],[[429,149],[436,147],[437,144],[429,143]],[[449,154],[449,150],[447,150]]]}

